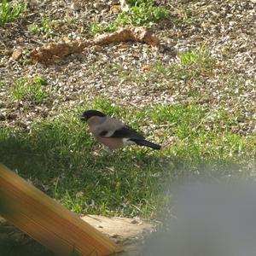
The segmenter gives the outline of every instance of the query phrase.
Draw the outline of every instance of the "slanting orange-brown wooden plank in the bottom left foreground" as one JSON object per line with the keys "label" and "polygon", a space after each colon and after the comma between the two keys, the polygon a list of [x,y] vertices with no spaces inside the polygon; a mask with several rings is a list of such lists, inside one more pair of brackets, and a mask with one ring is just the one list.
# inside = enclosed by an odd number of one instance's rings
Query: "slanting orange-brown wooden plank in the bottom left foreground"
{"label": "slanting orange-brown wooden plank in the bottom left foreground", "polygon": [[8,206],[3,218],[61,256],[109,255],[113,241],[32,184],[0,165],[0,195]]}

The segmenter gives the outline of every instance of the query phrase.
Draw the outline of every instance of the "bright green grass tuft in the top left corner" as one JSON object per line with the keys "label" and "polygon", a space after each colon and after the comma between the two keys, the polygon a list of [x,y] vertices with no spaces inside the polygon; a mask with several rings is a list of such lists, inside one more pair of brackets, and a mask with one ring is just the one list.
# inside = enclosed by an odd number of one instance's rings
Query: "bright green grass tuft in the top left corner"
{"label": "bright green grass tuft in the top left corner", "polygon": [[25,11],[26,11],[26,4],[8,3],[7,0],[3,0],[0,5],[0,26],[5,26],[5,24],[9,22],[14,22]]}

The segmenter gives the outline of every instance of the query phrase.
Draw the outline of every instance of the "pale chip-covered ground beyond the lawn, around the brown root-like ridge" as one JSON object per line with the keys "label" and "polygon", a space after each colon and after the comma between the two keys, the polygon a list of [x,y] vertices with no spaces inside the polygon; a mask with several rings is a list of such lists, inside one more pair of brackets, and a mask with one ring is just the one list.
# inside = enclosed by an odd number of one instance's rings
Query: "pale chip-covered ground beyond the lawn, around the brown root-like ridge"
{"label": "pale chip-covered ground beyond the lawn, around the brown root-like ridge", "polygon": [[[31,49],[60,38],[90,38],[93,22],[113,20],[109,11],[118,1],[28,1],[26,17],[0,28],[0,125],[29,126],[50,119],[63,108],[106,97],[114,104],[130,107],[177,102],[196,102],[206,109],[225,108],[238,116],[237,131],[256,132],[255,33],[256,1],[169,1],[171,16],[152,27],[160,38],[158,51],[147,44],[124,43],[92,46],[82,54],[69,55],[55,65],[34,64]],[[75,10],[73,8],[75,6]],[[77,10],[78,9],[78,10]],[[55,20],[55,36],[32,34],[28,26],[42,17]],[[214,64],[195,76],[154,74],[154,63],[180,66],[180,53],[204,46]],[[11,58],[22,49],[19,61]],[[152,70],[148,72],[148,70]],[[185,74],[190,74],[187,68]],[[13,99],[15,79],[41,76],[51,101],[40,105]]]}

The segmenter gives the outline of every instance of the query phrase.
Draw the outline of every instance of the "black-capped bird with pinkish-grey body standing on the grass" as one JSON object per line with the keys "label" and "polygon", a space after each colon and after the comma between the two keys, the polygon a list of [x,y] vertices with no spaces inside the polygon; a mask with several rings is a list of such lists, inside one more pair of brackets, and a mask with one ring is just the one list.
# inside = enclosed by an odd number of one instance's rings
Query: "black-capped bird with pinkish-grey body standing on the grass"
{"label": "black-capped bird with pinkish-grey body standing on the grass", "polygon": [[132,143],[156,150],[161,148],[160,145],[145,140],[141,133],[133,130],[128,125],[100,111],[87,110],[81,115],[81,120],[88,123],[92,136],[111,150]]}

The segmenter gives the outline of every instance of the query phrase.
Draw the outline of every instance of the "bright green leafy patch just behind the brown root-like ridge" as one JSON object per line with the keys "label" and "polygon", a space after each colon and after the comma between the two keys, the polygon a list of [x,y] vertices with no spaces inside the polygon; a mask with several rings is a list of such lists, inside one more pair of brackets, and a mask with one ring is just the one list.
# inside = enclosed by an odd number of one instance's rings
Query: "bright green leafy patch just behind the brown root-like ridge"
{"label": "bright green leafy patch just behind the brown root-like ridge", "polygon": [[138,1],[131,4],[129,12],[121,12],[116,20],[108,23],[94,23],[90,34],[113,32],[119,26],[152,26],[159,20],[166,19],[169,11],[162,6],[155,6],[153,1]]}

